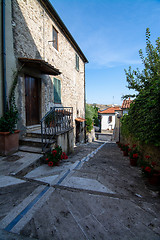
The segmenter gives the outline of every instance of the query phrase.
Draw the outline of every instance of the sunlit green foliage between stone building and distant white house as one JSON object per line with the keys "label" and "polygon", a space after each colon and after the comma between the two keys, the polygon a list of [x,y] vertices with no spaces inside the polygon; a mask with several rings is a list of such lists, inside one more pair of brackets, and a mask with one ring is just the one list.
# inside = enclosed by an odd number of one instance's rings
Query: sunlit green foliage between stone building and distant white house
{"label": "sunlit green foliage between stone building and distant white house", "polygon": [[98,107],[86,104],[87,131],[90,132],[93,129],[93,123],[94,123],[95,126],[99,126]]}

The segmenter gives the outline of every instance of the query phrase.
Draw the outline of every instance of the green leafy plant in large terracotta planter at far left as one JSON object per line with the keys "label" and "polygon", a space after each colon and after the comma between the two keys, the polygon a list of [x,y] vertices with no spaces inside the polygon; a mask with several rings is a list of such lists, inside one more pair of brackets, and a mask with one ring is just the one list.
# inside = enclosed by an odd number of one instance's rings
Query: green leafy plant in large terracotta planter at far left
{"label": "green leafy plant in large terracotta planter at far left", "polygon": [[9,155],[19,147],[19,130],[16,130],[18,110],[14,106],[0,118],[0,155]]}

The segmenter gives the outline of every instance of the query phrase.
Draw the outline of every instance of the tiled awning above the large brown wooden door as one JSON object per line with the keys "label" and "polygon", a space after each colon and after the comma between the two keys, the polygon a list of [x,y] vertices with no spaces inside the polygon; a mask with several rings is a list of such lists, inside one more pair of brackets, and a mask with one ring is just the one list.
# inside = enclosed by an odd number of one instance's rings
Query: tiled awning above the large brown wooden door
{"label": "tiled awning above the large brown wooden door", "polygon": [[56,69],[51,64],[41,59],[18,58],[18,60],[21,63],[25,63],[25,66],[27,67],[40,70],[41,73],[43,74],[55,75],[55,76],[61,74],[61,72],[58,69]]}

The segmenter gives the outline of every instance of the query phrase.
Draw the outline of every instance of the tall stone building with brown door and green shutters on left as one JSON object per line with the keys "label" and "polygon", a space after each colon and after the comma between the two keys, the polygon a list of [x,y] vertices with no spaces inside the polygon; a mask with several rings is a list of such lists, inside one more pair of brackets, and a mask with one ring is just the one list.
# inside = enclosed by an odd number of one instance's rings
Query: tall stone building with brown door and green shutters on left
{"label": "tall stone building with brown door and green shutters on left", "polygon": [[1,7],[4,2],[6,92],[17,74],[18,128],[24,134],[30,126],[39,127],[51,108],[70,107],[74,139],[83,141],[85,55],[48,0],[1,0]]}

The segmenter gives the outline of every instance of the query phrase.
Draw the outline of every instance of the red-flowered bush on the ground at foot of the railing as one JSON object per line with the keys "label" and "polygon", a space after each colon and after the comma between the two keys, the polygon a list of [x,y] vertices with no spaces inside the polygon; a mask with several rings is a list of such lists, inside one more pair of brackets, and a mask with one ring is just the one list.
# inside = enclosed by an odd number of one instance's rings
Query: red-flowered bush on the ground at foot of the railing
{"label": "red-flowered bush on the ground at foot of the railing", "polygon": [[62,148],[57,145],[54,149],[47,153],[45,162],[48,164],[48,166],[53,167],[58,165],[62,159],[68,159],[68,156],[65,154],[65,152],[62,152]]}

